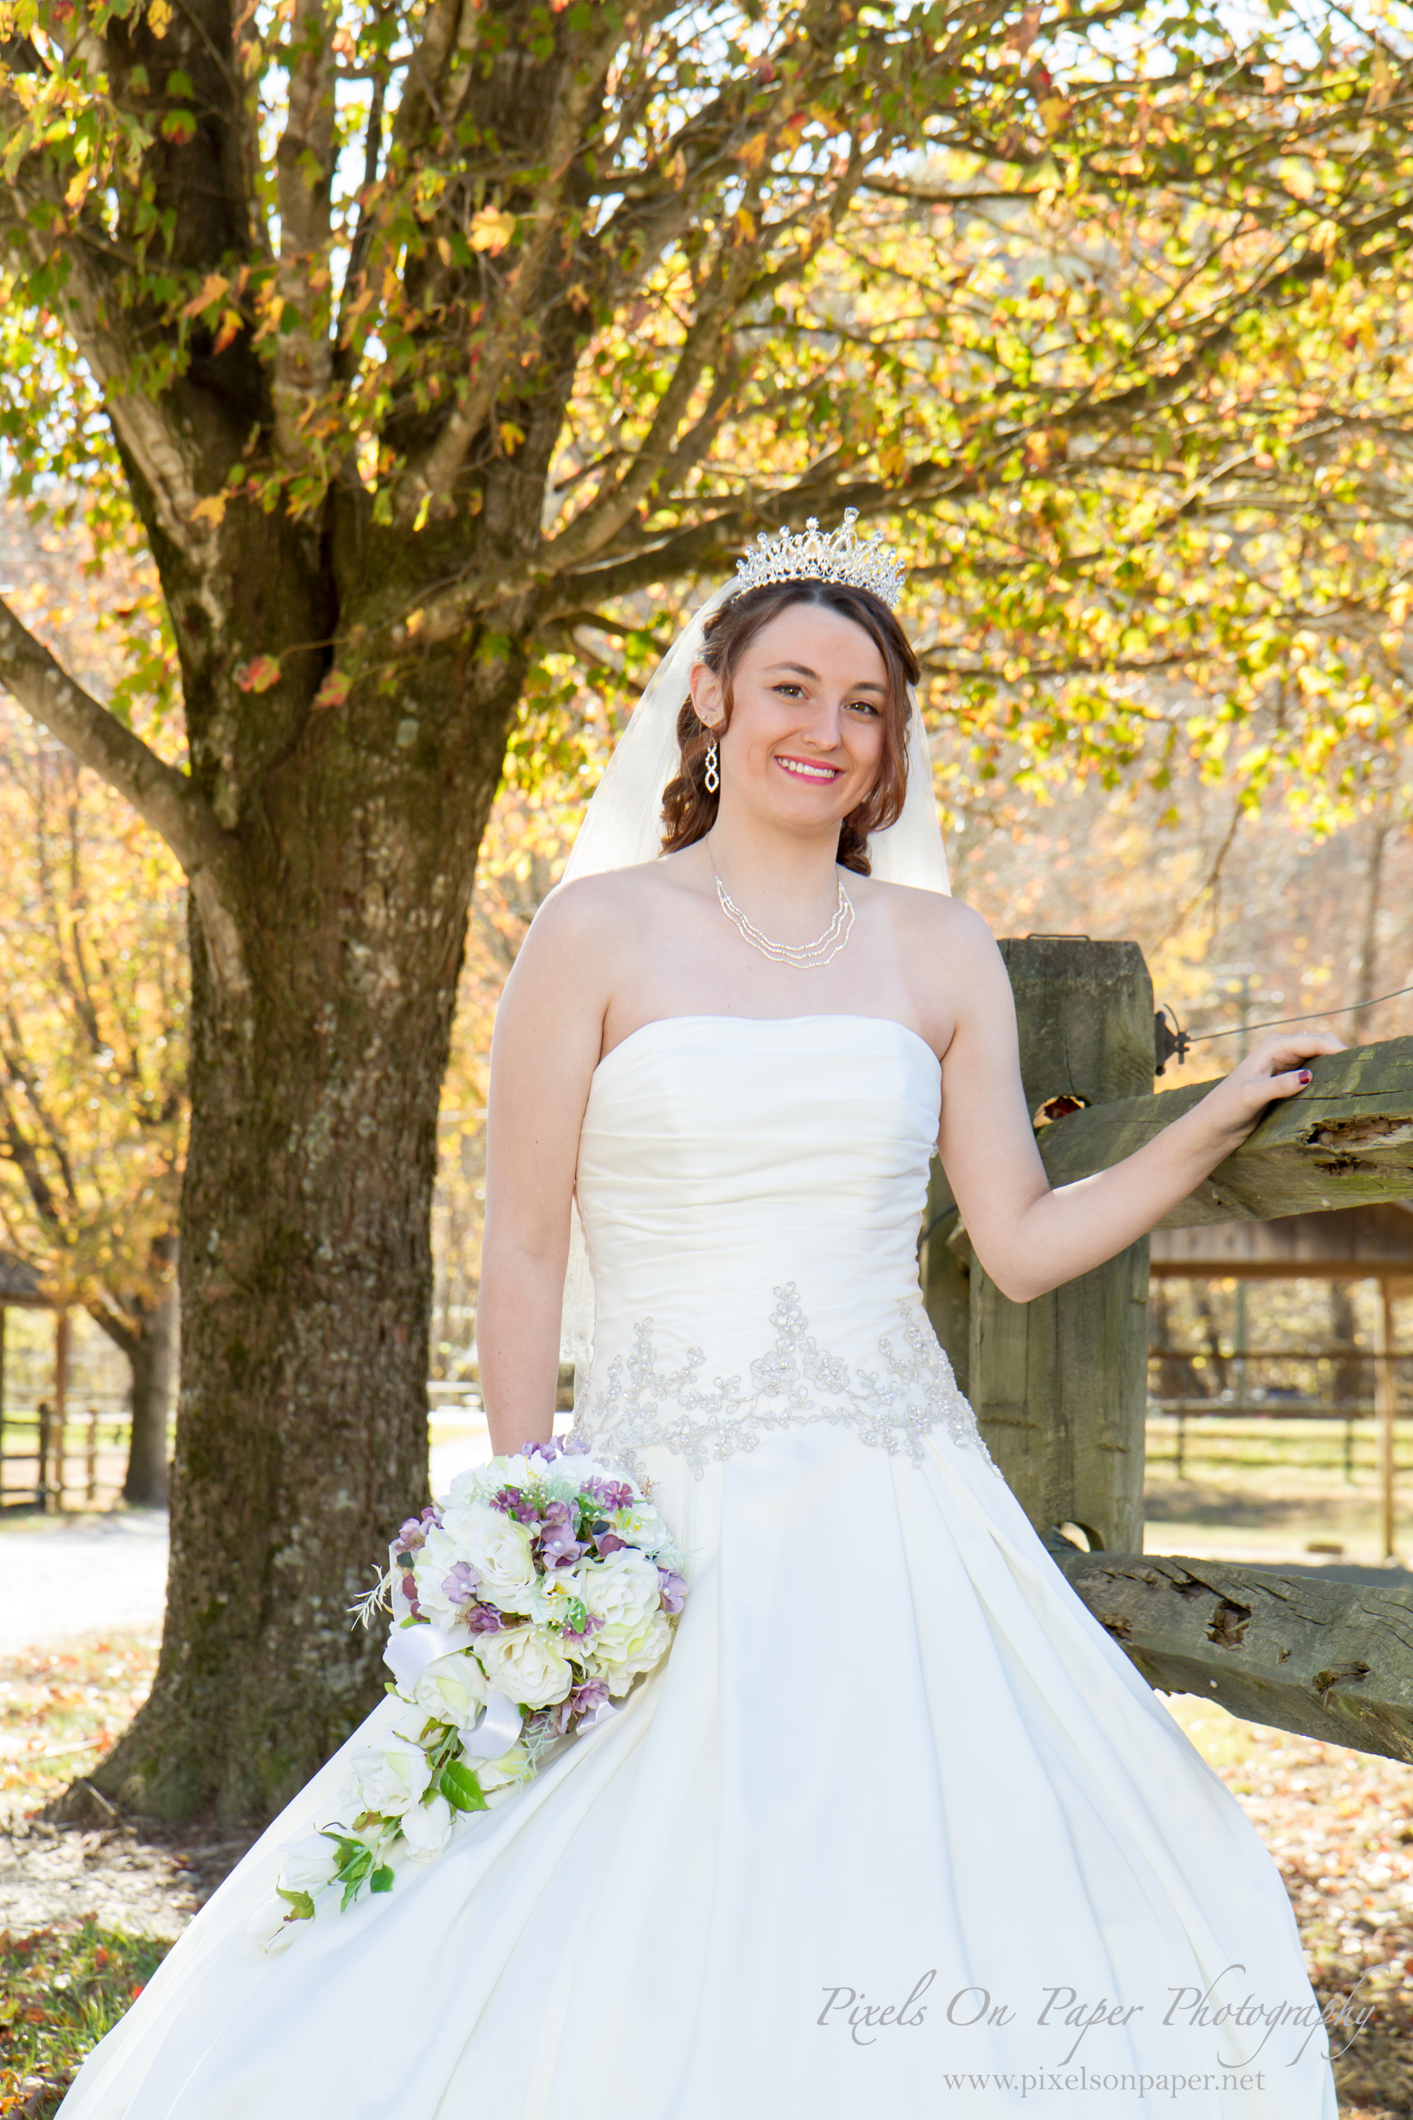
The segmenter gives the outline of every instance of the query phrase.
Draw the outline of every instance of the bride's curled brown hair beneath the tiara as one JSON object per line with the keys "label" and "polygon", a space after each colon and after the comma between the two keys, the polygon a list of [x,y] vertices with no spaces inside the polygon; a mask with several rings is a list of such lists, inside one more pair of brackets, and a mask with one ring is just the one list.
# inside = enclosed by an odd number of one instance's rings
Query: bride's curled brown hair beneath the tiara
{"label": "bride's curled brown hair beneath the tiara", "polygon": [[[862,625],[888,670],[888,697],[883,700],[883,757],[879,776],[860,803],[849,810],[839,827],[839,863],[858,876],[869,873],[869,833],[886,831],[902,816],[907,795],[907,723],[909,685],[917,683],[917,657],[907,634],[898,625],[888,604],[869,589],[854,589],[843,581],[767,581],[758,589],[746,589],[729,598],[705,621],[705,647],[701,661],[720,678],[722,719],[720,736],[731,725],[731,676],[741,655],[756,634],[788,611],[790,604],[818,604],[822,611],[837,611],[841,619]],[[712,729],[697,719],[691,700],[678,714],[678,746],[682,767],[676,780],[663,791],[663,854],[676,854],[680,846],[695,846],[716,823],[720,795],[712,795],[705,784],[705,755]]]}

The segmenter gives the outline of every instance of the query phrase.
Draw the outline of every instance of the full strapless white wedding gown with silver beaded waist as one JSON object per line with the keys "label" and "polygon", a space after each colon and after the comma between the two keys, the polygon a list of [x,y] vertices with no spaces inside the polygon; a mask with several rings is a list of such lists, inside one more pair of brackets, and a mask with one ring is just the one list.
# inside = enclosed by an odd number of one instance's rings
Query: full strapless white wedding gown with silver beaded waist
{"label": "full strapless white wedding gown with silver beaded waist", "polygon": [[[691,1556],[672,1654],[443,1857],[265,1955],[248,1919],[328,1823],[333,1760],[64,2120],[1335,2120],[1271,1857],[928,1327],[938,1081],[854,1015],[672,1018],[608,1054],[576,1425]],[[1222,2003],[1246,2022],[1199,2022]]]}

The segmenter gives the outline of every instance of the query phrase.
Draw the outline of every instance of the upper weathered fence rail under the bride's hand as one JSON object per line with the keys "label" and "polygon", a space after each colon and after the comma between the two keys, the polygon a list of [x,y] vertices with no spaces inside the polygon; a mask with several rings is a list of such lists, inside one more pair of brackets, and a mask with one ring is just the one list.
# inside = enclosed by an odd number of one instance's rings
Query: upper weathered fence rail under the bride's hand
{"label": "upper weathered fence rail under the bride's hand", "polygon": [[[1309,1088],[1273,1105],[1161,1227],[1269,1221],[1413,1194],[1413,1039],[1326,1054],[1311,1062],[1311,1073]],[[1091,1100],[1089,1111],[1042,1126],[1040,1155],[1051,1183],[1068,1185],[1123,1162],[1212,1088],[1193,1081],[1159,1096]]]}

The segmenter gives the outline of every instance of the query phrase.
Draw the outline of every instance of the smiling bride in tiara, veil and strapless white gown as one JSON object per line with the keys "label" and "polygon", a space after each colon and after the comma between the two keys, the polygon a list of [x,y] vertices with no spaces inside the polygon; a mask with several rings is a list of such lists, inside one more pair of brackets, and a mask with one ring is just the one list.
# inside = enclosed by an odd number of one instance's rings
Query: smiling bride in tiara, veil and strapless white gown
{"label": "smiling bride in tiara, veil and strapless white gown", "polygon": [[66,2120],[1335,2120],[1275,1866],[996,1473],[915,1268],[934,1147],[1025,1302],[1335,1041],[1267,1039],[1049,1189],[1000,954],[945,895],[896,589],[847,524],[763,541],[633,714],[496,1020],[491,1442],[551,1435],[574,1198],[576,1433],[688,1554],[672,1654],[271,1957],[250,1912],[337,1817],[333,1760]]}

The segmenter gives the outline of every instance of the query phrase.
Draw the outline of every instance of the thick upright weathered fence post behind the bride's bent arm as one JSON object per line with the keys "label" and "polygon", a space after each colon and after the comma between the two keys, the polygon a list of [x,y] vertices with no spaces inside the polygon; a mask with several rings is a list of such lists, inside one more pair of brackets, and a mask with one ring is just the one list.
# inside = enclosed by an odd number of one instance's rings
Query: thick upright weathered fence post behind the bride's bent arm
{"label": "thick upright weathered fence post behind the bride's bent arm", "polygon": [[[1002,941],[1034,1113],[1152,1094],[1152,982],[1133,941]],[[1142,1552],[1148,1240],[1032,1304],[970,1268],[970,1399],[1032,1524]]]}

